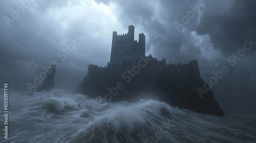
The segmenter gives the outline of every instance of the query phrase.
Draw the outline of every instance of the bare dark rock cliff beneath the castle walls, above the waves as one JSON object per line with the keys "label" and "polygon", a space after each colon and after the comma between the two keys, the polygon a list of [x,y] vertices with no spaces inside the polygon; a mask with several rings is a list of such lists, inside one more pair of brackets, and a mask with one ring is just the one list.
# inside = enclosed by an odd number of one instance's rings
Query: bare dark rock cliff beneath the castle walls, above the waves
{"label": "bare dark rock cliff beneath the castle walls, above the waves", "polygon": [[135,102],[140,99],[156,99],[179,109],[188,109],[203,114],[224,115],[212,90],[201,95],[198,88],[204,89],[205,81],[193,76],[160,74],[152,76],[141,71],[129,82],[115,76],[109,70],[103,75],[85,77],[77,86],[77,92],[92,98],[102,97],[109,102]]}

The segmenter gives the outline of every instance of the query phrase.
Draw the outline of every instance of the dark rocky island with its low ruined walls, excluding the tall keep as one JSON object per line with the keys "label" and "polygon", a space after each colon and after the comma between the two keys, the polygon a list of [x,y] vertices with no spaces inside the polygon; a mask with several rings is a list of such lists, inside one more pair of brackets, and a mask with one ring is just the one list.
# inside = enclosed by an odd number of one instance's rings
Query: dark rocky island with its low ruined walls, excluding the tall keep
{"label": "dark rocky island with its low ruined walls, excluding the tall keep", "polygon": [[[147,57],[148,58],[148,57]],[[198,92],[207,86],[200,78],[196,60],[189,64],[169,64],[161,66],[148,66],[118,73],[115,68],[89,65],[88,75],[77,86],[77,91],[96,98],[100,96],[105,101],[135,102],[143,98],[152,98],[170,106],[188,109],[198,113],[224,115],[211,90]],[[196,62],[196,63],[195,63]],[[138,67],[138,66],[136,66]],[[141,97],[142,95],[145,95]],[[146,97],[147,95],[154,97]]]}

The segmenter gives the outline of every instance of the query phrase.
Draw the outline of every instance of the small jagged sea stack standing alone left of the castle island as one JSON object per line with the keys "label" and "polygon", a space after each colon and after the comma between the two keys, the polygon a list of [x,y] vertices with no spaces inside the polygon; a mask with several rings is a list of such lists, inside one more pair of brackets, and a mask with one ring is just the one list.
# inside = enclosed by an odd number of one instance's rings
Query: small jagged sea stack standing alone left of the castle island
{"label": "small jagged sea stack standing alone left of the castle island", "polygon": [[47,77],[45,78],[44,82],[36,88],[37,92],[44,91],[44,90],[51,91],[54,88],[55,71],[56,71],[56,65],[52,65],[51,69],[46,74]]}

